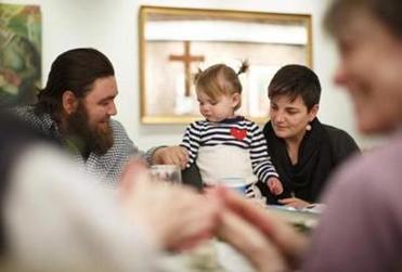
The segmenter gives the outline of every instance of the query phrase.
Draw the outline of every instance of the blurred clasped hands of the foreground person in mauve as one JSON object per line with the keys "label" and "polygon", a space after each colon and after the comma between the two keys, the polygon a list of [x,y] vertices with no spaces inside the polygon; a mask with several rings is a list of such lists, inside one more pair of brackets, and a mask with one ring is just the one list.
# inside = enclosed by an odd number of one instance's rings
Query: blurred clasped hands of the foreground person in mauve
{"label": "blurred clasped hands of the foreground person in mauve", "polygon": [[223,205],[218,235],[232,244],[257,271],[286,271],[298,267],[307,237],[265,209],[222,187],[212,189]]}

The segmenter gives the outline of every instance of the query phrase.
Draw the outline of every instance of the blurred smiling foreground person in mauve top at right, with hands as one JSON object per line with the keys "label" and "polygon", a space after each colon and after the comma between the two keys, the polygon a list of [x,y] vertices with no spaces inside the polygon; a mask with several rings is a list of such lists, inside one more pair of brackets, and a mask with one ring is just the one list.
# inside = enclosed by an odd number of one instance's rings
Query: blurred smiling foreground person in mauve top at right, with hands
{"label": "blurred smiling foreground person in mauve top at right, with hands", "polygon": [[[232,194],[225,196],[226,212],[241,223],[223,220],[221,235],[259,271],[281,271],[272,269],[269,256],[278,256],[282,271],[402,271],[402,3],[335,0],[325,25],[340,52],[335,81],[350,94],[360,131],[387,133],[390,140],[348,161],[334,177],[310,246]],[[242,234],[234,235],[239,225]],[[248,238],[254,233],[258,241]]]}

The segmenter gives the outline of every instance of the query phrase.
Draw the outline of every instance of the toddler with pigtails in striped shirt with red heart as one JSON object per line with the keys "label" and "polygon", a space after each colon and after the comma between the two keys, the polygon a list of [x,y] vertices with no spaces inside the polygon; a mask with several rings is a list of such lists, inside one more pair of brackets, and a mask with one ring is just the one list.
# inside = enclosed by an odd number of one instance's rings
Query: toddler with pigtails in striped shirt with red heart
{"label": "toddler with pigtails in striped shirt with red heart", "polygon": [[261,181],[272,194],[278,195],[283,186],[261,130],[254,121],[235,115],[242,102],[238,75],[247,68],[244,62],[238,73],[224,64],[198,72],[195,89],[205,119],[186,128],[181,146],[189,152],[186,167],[195,163],[204,184],[217,185],[223,179],[241,179],[246,195],[259,197],[256,183]]}

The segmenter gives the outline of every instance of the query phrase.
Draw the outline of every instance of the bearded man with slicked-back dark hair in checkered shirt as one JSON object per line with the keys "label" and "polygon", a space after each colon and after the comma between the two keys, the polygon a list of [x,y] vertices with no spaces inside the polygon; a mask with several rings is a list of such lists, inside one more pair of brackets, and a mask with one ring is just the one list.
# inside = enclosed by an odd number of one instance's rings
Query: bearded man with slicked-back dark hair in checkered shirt
{"label": "bearded man with slicked-back dark hair in checkered shirt", "polygon": [[185,166],[179,146],[158,146],[141,152],[117,114],[115,70],[103,53],[78,48],[60,54],[51,66],[38,102],[20,106],[15,113],[30,126],[57,140],[85,168],[102,180],[117,182],[125,164],[141,156],[148,164]]}

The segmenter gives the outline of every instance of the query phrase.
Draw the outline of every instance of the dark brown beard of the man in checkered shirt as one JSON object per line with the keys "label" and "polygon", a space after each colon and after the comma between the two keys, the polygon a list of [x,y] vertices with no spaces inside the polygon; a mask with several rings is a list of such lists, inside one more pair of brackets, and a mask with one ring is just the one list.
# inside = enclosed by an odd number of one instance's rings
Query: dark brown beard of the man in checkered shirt
{"label": "dark brown beard of the man in checkered shirt", "polygon": [[106,129],[91,127],[88,112],[85,105],[79,102],[77,111],[67,117],[67,134],[81,153],[94,152],[104,155],[113,145],[113,131],[109,121]]}

